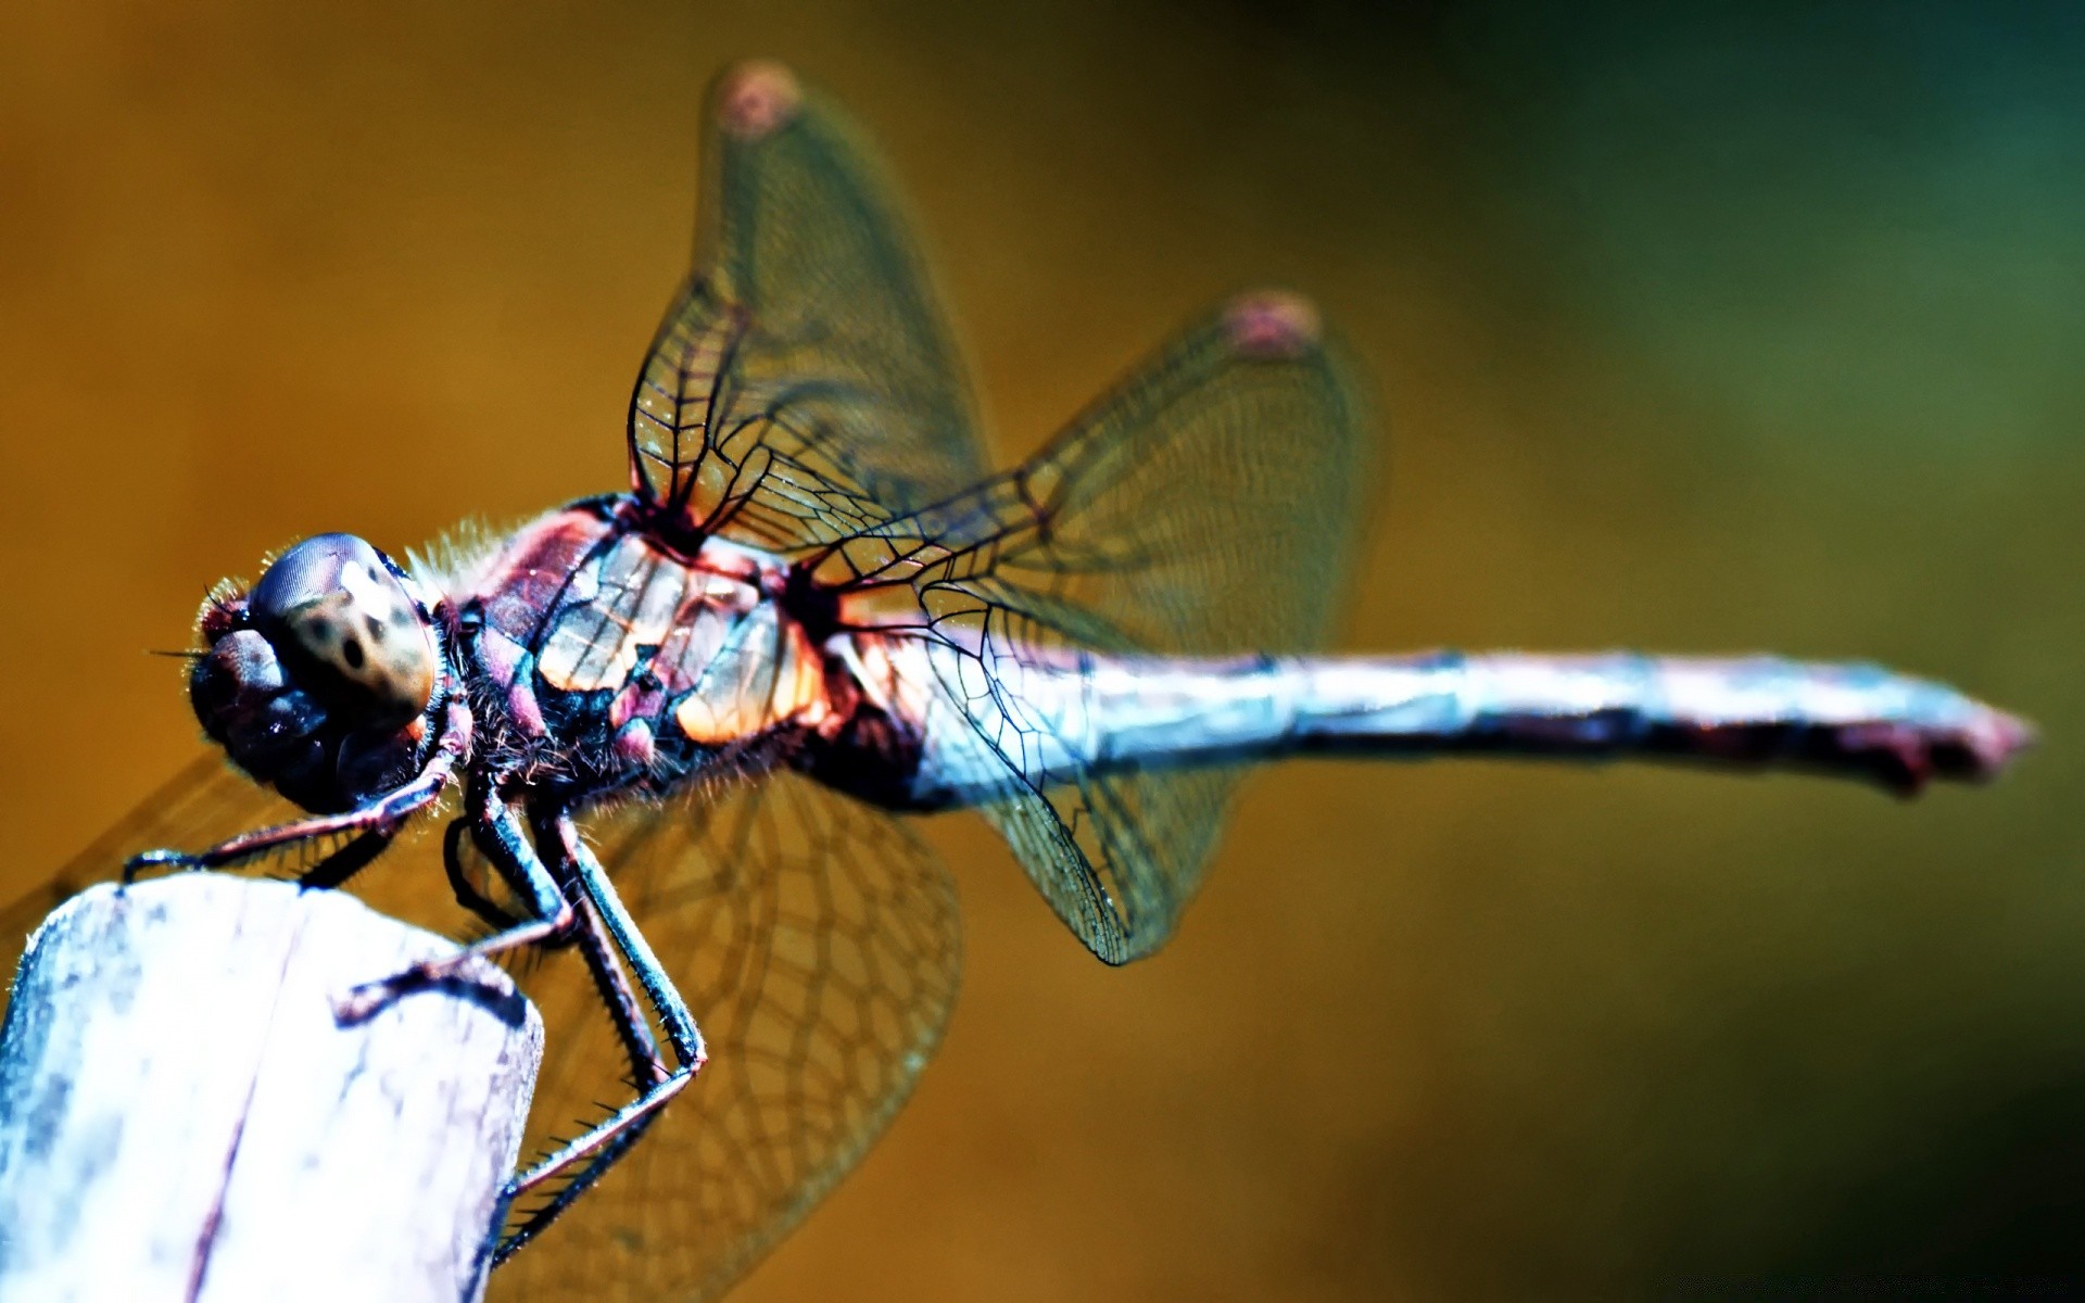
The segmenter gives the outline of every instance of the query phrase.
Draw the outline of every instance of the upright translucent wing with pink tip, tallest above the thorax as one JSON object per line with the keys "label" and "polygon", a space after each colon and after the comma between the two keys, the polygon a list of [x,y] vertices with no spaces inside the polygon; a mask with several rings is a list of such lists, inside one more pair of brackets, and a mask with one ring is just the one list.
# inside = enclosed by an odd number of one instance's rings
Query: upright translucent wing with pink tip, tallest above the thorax
{"label": "upright translucent wing with pink tip, tallest above the thorax", "polygon": [[711,100],[696,271],[630,400],[636,492],[821,544],[984,477],[970,386],[872,150],[776,65]]}

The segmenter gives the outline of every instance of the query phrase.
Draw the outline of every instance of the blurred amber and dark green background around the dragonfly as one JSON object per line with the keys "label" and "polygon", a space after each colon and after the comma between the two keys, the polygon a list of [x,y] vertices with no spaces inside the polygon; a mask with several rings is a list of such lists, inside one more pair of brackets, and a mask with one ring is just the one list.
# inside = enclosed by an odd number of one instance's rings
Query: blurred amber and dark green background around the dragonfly
{"label": "blurred amber and dark green background around the dragonfly", "polygon": [[942,1061],[746,1299],[2085,1272],[2064,4],[10,6],[13,876],[192,755],[142,650],[215,577],[619,486],[744,54],[886,146],[1003,457],[1216,296],[1318,296],[1391,423],[1345,646],[1862,657],[2043,728],[1912,805],[1289,767],[1122,972],[938,819]]}

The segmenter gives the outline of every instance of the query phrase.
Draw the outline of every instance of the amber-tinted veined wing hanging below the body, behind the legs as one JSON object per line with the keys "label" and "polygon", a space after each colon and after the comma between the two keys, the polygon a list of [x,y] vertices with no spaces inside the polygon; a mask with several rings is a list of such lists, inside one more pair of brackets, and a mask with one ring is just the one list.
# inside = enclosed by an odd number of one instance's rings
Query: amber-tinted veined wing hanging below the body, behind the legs
{"label": "amber-tinted veined wing hanging below the body, behind the legs", "polygon": [[[490,1299],[713,1299],[888,1126],[955,999],[955,892],[892,817],[782,773],[715,805],[628,807],[600,861],[671,969],[709,1065]],[[548,1044],[530,1142],[628,1099],[578,955],[523,986]]]}

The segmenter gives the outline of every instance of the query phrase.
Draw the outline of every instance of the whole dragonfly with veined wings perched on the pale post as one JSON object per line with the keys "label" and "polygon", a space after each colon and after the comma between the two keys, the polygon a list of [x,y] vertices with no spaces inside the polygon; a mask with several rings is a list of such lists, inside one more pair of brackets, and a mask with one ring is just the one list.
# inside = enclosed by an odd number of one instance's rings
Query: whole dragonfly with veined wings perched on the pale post
{"label": "whole dragonfly with veined wings perched on the pale post", "polygon": [[465,953],[513,959],[548,1028],[496,1293],[715,1297],[861,1159],[957,988],[955,892],[903,815],[980,811],[1128,963],[1174,934],[1261,761],[1637,757],[1916,792],[2031,736],[1872,665],[1324,655],[1374,419],[1307,300],[1222,304],[992,469],[842,110],[742,65],[705,163],[628,490],[404,561],[319,534],[219,584],[188,690],[221,755],[48,888],[125,857],[323,888],[417,859],[388,890],[477,919]]}

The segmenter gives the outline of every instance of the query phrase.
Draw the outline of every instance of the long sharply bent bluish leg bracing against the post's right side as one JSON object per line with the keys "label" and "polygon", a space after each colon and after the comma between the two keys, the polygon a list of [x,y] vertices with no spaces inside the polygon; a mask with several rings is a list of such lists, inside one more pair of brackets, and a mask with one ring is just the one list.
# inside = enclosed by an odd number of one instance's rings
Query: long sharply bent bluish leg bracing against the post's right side
{"label": "long sharply bent bluish leg bracing against the post's right side", "polygon": [[[511,1205],[515,1199],[540,1188],[544,1182],[565,1176],[565,1184],[557,1190],[557,1195],[553,1195],[542,1207],[532,1209],[521,1224],[494,1247],[494,1263],[507,1261],[507,1257],[521,1249],[521,1245],[536,1238],[559,1218],[559,1213],[571,1207],[580,1195],[598,1182],[659,1117],[659,1109],[663,1109],[669,1099],[680,1095],[680,1090],[694,1080],[694,1074],[703,1070],[703,1061],[707,1057],[703,1049],[703,1032],[694,1026],[694,1015],[688,1013],[688,1005],[673,988],[673,980],[667,976],[665,967],[661,967],[659,957],[653,955],[651,942],[646,942],[636,930],[636,924],[623,909],[621,896],[617,896],[615,888],[609,884],[609,876],[600,867],[600,861],[594,859],[594,853],[580,840],[580,832],[573,828],[571,815],[565,811],[555,813],[548,821],[548,832],[557,836],[559,851],[565,865],[571,869],[580,892],[586,896],[586,903],[598,911],[598,919],[607,928],[609,938],[613,938],[615,949],[621,951],[623,959],[630,961],[630,969],[636,974],[638,984],[644,988],[644,997],[659,1015],[659,1022],[665,1028],[667,1044],[673,1049],[673,1067],[665,1072],[665,1076],[653,1080],[653,1084],[638,1090],[634,1101],[598,1122],[586,1134],[563,1145],[557,1153],[540,1159],[534,1167],[521,1172],[507,1184],[507,1203]],[[617,1019],[634,1013],[634,1007],[615,1009],[611,1005],[611,1015]],[[648,1036],[651,1032],[646,1030],[644,1034]],[[630,1040],[626,1038],[626,1044]]]}

